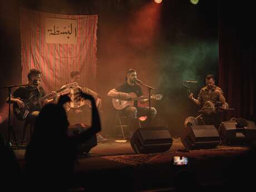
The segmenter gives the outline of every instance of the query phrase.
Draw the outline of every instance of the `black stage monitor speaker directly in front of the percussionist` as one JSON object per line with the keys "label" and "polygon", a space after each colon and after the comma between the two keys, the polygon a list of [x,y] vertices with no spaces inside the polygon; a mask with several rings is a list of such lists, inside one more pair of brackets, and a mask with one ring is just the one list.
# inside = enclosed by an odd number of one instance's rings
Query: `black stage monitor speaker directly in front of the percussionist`
{"label": "black stage monitor speaker directly in front of the percussionist", "polygon": [[181,141],[188,150],[213,149],[219,145],[220,137],[214,125],[194,125],[185,128]]}

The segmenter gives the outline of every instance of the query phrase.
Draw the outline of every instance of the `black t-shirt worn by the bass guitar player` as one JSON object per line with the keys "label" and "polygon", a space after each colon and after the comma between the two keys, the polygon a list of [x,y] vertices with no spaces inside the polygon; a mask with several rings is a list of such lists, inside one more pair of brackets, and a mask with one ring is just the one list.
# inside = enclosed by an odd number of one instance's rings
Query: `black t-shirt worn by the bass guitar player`
{"label": "black t-shirt worn by the bass guitar player", "polygon": [[43,90],[43,87],[40,87],[39,91],[40,92],[38,92],[36,87],[24,86],[17,88],[12,95],[14,98],[20,97],[21,100],[27,100],[32,97],[40,99],[41,97],[45,96],[45,90]]}

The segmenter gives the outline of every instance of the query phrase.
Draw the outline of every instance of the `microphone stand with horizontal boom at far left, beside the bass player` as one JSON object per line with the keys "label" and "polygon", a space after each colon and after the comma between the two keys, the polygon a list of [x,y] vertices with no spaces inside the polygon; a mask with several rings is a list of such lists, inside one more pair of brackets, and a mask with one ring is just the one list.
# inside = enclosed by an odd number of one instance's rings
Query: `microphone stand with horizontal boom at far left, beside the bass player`
{"label": "microphone stand with horizontal boom at far left, beside the bass player", "polygon": [[23,86],[32,86],[34,84],[23,84],[23,85],[10,85],[10,86],[4,86],[4,87],[0,87],[0,88],[8,88],[8,135],[7,135],[7,141],[8,143],[10,142],[10,134],[12,131],[12,135],[13,135],[13,139],[15,141],[15,143],[17,144],[17,139],[16,139],[16,135],[14,134],[14,130],[13,130],[13,126],[11,126],[11,88],[13,87],[23,87]]}

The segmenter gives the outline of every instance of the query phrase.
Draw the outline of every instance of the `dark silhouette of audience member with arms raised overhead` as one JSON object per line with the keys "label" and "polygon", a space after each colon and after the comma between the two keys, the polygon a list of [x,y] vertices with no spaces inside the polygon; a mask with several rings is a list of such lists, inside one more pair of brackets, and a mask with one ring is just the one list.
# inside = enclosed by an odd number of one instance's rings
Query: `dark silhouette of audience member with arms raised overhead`
{"label": "dark silhouette of audience member with arms raised overhead", "polygon": [[[68,136],[68,120],[63,104],[70,101],[61,96],[58,104],[43,107],[35,122],[35,130],[25,154],[28,190],[68,191],[72,185],[72,172],[77,147],[101,130],[99,112],[91,95],[80,93],[91,101],[92,125],[81,134]],[[84,127],[83,124],[77,124]]]}

